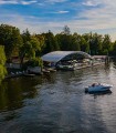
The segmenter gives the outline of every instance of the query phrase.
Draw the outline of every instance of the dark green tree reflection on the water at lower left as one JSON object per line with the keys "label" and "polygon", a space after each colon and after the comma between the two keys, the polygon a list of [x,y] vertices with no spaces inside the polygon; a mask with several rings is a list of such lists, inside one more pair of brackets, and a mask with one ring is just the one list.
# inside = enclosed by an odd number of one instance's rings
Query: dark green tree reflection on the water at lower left
{"label": "dark green tree reflection on the water at lower left", "polygon": [[0,111],[10,111],[23,106],[23,99],[32,99],[36,94],[34,81],[27,79],[10,79],[0,88]]}

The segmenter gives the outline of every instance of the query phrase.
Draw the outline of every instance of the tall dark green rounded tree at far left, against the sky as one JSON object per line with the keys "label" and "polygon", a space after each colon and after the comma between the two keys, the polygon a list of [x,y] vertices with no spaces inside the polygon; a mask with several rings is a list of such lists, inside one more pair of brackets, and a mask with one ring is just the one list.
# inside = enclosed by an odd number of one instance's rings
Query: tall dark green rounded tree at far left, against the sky
{"label": "tall dark green rounded tree at far left, against the sky", "polygon": [[1,24],[0,43],[4,45],[7,59],[10,59],[13,55],[13,51],[22,44],[20,30],[12,25]]}

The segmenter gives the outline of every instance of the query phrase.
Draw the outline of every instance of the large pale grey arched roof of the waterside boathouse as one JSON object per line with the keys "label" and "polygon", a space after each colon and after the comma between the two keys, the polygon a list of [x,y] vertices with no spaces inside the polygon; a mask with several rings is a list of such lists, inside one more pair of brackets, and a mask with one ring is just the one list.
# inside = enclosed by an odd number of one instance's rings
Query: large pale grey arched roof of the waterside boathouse
{"label": "large pale grey arched roof of the waterside boathouse", "polygon": [[82,52],[82,51],[54,51],[54,52],[46,53],[41,58],[43,61],[59,62],[60,60],[62,60],[66,55],[74,54],[74,53],[82,54],[87,59],[91,58],[89,54]]}

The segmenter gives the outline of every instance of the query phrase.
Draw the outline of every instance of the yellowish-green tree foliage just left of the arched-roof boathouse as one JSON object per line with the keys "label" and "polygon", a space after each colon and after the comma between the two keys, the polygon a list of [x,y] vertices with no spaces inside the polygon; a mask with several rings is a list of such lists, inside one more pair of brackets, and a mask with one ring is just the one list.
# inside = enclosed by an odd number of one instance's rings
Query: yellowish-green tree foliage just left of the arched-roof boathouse
{"label": "yellowish-green tree foliage just left of the arched-roof boathouse", "polygon": [[21,65],[23,64],[24,58],[31,60],[39,55],[39,52],[42,49],[42,43],[44,41],[42,40],[42,38],[40,39],[39,35],[31,35],[28,30],[25,30],[25,32],[23,31],[22,39],[23,39],[23,45],[20,48],[20,54],[19,54],[21,59]]}

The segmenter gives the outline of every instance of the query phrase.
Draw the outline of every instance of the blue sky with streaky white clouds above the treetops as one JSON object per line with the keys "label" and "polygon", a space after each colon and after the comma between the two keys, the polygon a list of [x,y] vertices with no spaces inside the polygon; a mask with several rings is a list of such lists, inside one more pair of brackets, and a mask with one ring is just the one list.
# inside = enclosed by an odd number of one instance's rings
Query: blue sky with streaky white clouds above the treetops
{"label": "blue sky with streaky white clouds above the treetops", "polygon": [[72,33],[97,32],[116,40],[116,0],[0,0],[0,24],[21,31],[53,33],[67,25]]}

